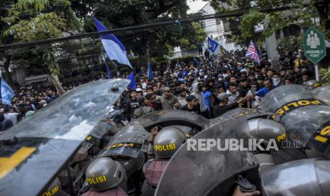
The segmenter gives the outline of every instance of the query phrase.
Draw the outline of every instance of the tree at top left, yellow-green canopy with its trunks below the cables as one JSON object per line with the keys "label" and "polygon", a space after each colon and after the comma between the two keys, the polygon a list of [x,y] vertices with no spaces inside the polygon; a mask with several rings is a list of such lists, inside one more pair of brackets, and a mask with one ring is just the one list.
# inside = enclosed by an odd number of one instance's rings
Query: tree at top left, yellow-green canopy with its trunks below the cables
{"label": "tree at top left, yellow-green canopy with its trunks below the cables", "polygon": [[[71,9],[71,3],[68,0],[18,0],[16,3],[11,2],[7,11],[1,11],[1,43],[9,44],[15,42],[28,42],[34,40],[43,40],[48,38],[58,38],[63,32],[72,33],[79,29],[79,21],[75,17]],[[53,45],[40,45],[40,48],[52,48]],[[6,70],[6,78],[11,86],[15,86],[9,75],[9,65],[14,58],[31,58],[38,51],[42,50],[44,55],[43,62],[49,68],[52,74],[52,81],[60,94],[64,91],[58,80],[60,70],[56,67],[55,58],[50,58],[55,55],[54,50],[43,50],[35,48],[28,50],[28,55],[18,53],[15,50],[6,51],[6,61],[4,69]],[[47,57],[47,58],[46,58]],[[40,60],[41,61],[41,60]],[[17,91],[16,91],[17,92]]]}

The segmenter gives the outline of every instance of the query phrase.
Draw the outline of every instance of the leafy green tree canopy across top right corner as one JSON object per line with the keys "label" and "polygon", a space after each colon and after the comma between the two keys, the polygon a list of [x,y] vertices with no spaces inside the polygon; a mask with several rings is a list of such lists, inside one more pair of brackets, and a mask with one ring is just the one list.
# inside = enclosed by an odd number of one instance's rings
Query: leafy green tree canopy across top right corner
{"label": "leafy green tree canopy across top right corner", "polygon": [[[238,20],[239,26],[235,35],[236,40],[251,40],[251,38],[253,38],[254,26],[265,20],[265,18],[268,20],[268,24],[265,26],[265,31],[263,31],[259,39],[260,42],[276,31],[292,25],[292,23],[300,27],[313,26],[312,18],[314,17],[321,18],[321,26],[318,28],[324,31],[328,38],[330,36],[329,1],[257,0],[254,1],[256,6],[253,7],[255,7],[255,9],[251,9],[250,1],[247,0],[211,0],[211,5],[214,6],[218,12],[228,10],[221,7],[219,4],[220,2],[233,6],[235,9],[249,9],[248,13],[241,16]],[[287,7],[285,11],[270,11],[267,13],[260,11],[261,9],[275,9],[284,6]],[[322,9],[320,9],[320,6]]]}

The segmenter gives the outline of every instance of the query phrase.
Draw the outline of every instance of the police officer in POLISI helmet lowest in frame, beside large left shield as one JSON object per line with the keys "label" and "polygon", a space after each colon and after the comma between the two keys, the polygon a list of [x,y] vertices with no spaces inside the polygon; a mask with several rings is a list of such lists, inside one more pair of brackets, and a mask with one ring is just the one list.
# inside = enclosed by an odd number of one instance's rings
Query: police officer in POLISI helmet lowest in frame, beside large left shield
{"label": "police officer in POLISI helmet lowest in frame, beside large left shield", "polygon": [[126,173],[118,161],[106,157],[97,158],[87,167],[87,186],[81,192],[84,192],[83,196],[124,196],[127,195],[126,180]]}

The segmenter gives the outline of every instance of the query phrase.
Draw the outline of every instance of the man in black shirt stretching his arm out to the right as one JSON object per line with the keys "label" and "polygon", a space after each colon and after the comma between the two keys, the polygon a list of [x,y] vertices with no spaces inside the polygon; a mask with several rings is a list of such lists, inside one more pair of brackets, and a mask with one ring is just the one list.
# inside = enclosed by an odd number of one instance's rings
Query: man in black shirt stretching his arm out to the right
{"label": "man in black shirt stretching his arm out to the right", "polygon": [[226,94],[226,92],[221,92],[220,94],[218,94],[218,100],[220,103],[213,108],[214,118],[221,116],[222,114],[226,113],[227,111],[230,111],[231,109],[236,109],[240,104],[246,102],[246,100],[251,98],[251,96],[248,95],[242,99],[236,100],[236,102],[233,102],[233,104],[228,104],[229,96],[230,95]]}

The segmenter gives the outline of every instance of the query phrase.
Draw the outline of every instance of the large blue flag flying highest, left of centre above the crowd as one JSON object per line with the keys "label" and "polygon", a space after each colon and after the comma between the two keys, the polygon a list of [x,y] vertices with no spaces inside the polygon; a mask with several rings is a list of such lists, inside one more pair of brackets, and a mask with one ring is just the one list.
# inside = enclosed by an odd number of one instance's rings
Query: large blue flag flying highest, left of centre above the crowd
{"label": "large blue flag flying highest, left of centre above the crowd", "polygon": [[[95,24],[97,26],[97,31],[108,31],[108,29],[100,23],[97,18],[94,18]],[[114,36],[112,33],[104,34],[99,36],[101,38],[102,45],[104,50],[106,50],[106,54],[109,56],[111,60],[118,60],[121,64],[128,65],[129,67],[133,67],[127,58],[127,52],[125,46],[121,43],[121,41]]]}

